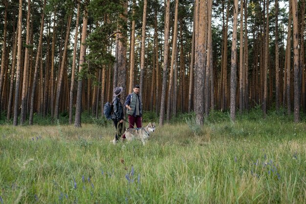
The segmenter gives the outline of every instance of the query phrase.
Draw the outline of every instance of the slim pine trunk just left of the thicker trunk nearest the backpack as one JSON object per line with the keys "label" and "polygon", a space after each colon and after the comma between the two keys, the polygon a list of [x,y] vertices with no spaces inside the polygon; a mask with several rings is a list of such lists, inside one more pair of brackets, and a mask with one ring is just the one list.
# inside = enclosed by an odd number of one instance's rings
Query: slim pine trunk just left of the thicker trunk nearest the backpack
{"label": "slim pine trunk just left of the thicker trunk nearest the backpack", "polygon": [[80,18],[80,3],[78,3],[78,11],[76,16],[75,34],[74,34],[74,45],[73,45],[73,59],[72,59],[72,70],[71,70],[71,84],[70,84],[70,96],[69,96],[69,125],[72,124],[72,111],[73,111],[73,90],[74,90],[74,79],[75,79],[75,60],[78,44],[78,31],[79,31],[79,18]]}

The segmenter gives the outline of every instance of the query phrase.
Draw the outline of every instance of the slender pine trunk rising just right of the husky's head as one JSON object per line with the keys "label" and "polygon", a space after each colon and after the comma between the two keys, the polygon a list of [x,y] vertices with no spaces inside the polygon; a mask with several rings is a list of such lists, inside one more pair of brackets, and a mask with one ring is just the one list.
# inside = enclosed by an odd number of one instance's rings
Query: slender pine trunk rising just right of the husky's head
{"label": "slender pine trunk rising just right of the husky's head", "polygon": [[164,35],[164,68],[163,68],[163,82],[161,88],[160,114],[159,125],[164,125],[165,118],[165,101],[167,89],[167,69],[168,69],[168,54],[169,54],[169,33],[170,33],[170,0],[166,0],[165,8],[165,35]]}

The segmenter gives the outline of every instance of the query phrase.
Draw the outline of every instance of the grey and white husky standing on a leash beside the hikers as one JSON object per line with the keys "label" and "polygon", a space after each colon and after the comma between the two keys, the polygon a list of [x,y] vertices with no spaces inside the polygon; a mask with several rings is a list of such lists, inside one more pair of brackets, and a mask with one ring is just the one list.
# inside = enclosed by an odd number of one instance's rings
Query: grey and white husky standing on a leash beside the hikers
{"label": "grey and white husky standing on a leash beside the hikers", "polygon": [[131,141],[133,139],[139,139],[145,145],[150,134],[155,131],[155,123],[153,124],[150,122],[149,125],[142,127],[142,128],[129,128],[125,131],[125,137],[127,140]]}

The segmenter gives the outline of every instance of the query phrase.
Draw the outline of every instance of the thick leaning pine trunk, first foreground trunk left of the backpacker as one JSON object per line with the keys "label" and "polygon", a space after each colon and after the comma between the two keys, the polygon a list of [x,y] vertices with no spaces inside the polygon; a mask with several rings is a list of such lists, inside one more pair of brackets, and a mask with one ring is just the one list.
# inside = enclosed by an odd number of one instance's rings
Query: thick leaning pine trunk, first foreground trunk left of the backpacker
{"label": "thick leaning pine trunk, first foreground trunk left of the backpacker", "polygon": [[[89,1],[86,0],[86,3]],[[83,28],[82,28],[82,39],[81,39],[81,48],[80,48],[80,63],[79,63],[79,72],[82,71],[83,63],[85,62],[85,55],[86,55],[86,35],[87,35],[87,5],[84,9],[84,16],[83,16]],[[74,126],[81,127],[81,109],[82,109],[82,82],[83,79],[79,76],[78,79],[78,90],[77,90],[77,101],[76,101],[76,108],[75,108],[75,119],[74,119]]]}

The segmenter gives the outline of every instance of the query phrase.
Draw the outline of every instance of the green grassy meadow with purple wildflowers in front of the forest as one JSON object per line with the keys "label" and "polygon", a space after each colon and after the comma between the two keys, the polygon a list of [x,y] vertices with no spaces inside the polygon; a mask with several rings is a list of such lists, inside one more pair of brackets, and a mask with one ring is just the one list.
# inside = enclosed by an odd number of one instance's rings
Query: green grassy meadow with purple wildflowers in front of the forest
{"label": "green grassy meadow with purple wildflowers in front of the forest", "polygon": [[105,121],[2,123],[0,204],[306,204],[305,116],[193,118],[157,125],[145,146],[112,144]]}

